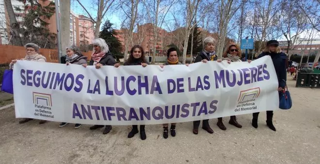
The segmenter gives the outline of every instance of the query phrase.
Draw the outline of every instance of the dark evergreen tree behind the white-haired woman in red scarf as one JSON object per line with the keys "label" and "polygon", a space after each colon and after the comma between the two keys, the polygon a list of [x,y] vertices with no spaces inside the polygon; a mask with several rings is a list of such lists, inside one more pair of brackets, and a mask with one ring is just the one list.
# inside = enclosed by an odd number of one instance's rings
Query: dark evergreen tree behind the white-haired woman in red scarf
{"label": "dark evergreen tree behind the white-haired woman in red scarf", "polygon": [[120,61],[124,57],[124,54],[120,53],[122,50],[122,44],[115,36],[117,33],[112,28],[112,23],[109,20],[103,24],[102,30],[100,31],[99,38],[102,38],[106,41],[109,46],[109,51],[116,58],[117,61]]}

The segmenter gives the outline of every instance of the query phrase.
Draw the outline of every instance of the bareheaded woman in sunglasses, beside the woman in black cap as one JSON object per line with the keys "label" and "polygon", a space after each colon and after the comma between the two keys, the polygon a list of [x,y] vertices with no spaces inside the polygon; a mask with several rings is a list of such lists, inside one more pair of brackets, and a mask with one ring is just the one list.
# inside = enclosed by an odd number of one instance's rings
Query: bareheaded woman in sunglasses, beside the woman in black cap
{"label": "bareheaded woman in sunglasses, beside the woman in black cap", "polygon": [[[236,44],[229,45],[228,48],[226,49],[226,51],[224,52],[222,59],[218,59],[218,62],[221,62],[222,60],[227,60],[227,62],[229,64],[231,62],[241,62],[241,50],[240,50],[239,45],[236,45]],[[248,62],[250,63],[251,60],[248,60]],[[240,125],[237,122],[236,116],[230,116],[229,123],[238,127],[238,128],[242,127],[242,125]],[[222,122],[222,117],[218,118],[217,126],[221,130],[226,130],[226,127],[224,126],[224,123]]]}

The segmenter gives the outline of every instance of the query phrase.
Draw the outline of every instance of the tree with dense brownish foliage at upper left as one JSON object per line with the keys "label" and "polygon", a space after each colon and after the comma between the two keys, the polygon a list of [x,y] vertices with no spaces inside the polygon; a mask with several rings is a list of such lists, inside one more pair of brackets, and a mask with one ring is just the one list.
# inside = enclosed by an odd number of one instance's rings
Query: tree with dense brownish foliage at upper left
{"label": "tree with dense brownish foliage at upper left", "polygon": [[[37,0],[18,1],[25,4],[25,9],[16,7],[16,10],[28,11],[25,12],[23,21],[20,24],[20,34],[23,36],[21,38],[23,44],[33,42],[43,48],[54,48],[56,46],[56,34],[49,31],[47,27],[49,23],[46,21],[55,13],[54,2],[49,1],[47,6],[42,6]],[[27,2],[28,5],[26,4]]]}

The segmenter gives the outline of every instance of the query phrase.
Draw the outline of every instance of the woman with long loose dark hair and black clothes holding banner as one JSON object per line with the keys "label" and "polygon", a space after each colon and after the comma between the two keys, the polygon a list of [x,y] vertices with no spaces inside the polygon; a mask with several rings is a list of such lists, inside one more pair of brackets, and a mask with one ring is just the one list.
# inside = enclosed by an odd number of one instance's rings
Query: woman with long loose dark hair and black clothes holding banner
{"label": "woman with long loose dark hair and black clothes holding banner", "polygon": [[[144,56],[144,49],[140,45],[135,45],[130,50],[130,55],[128,60],[123,64],[124,66],[139,66],[146,67],[149,63],[146,61]],[[120,63],[114,65],[114,67],[118,68]],[[142,140],[146,139],[145,135],[145,125],[140,125],[140,138]],[[128,134],[128,138],[134,137],[137,134],[138,125],[132,125],[132,130]]]}

